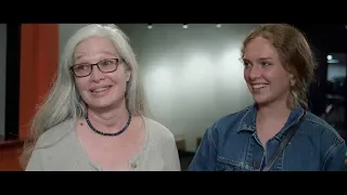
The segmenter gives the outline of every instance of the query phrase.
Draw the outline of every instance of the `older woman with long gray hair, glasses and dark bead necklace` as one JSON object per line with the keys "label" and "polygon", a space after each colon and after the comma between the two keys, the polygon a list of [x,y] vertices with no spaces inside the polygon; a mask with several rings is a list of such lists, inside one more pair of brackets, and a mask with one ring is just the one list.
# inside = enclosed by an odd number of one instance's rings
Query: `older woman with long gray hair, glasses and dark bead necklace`
{"label": "older woman with long gray hair, glasses and dark bead necklace", "polygon": [[145,117],[137,60],[115,25],[68,40],[33,136],[26,170],[180,170],[172,133]]}

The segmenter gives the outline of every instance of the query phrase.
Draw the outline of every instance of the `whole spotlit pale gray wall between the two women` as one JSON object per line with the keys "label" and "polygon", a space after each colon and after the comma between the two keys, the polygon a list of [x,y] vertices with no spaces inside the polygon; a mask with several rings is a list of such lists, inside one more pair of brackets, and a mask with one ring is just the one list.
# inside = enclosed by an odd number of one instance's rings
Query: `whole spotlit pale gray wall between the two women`
{"label": "whole spotlit pale gray wall between the two women", "polygon": [[134,41],[141,30],[131,28],[149,107],[156,120],[187,139],[189,151],[218,118],[253,103],[240,61],[242,39],[253,26],[233,26],[156,25],[141,34],[145,43]]}

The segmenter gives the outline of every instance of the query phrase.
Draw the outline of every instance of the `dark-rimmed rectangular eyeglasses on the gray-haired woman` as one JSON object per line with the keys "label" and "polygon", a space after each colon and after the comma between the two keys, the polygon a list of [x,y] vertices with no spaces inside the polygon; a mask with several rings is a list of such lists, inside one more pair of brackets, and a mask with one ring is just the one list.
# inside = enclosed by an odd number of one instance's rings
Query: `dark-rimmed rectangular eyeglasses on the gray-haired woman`
{"label": "dark-rimmed rectangular eyeglasses on the gray-haired woman", "polygon": [[70,69],[76,77],[88,77],[93,69],[93,66],[98,66],[99,70],[102,73],[112,73],[117,70],[119,63],[123,61],[123,58],[107,58],[100,61],[97,64],[75,64]]}

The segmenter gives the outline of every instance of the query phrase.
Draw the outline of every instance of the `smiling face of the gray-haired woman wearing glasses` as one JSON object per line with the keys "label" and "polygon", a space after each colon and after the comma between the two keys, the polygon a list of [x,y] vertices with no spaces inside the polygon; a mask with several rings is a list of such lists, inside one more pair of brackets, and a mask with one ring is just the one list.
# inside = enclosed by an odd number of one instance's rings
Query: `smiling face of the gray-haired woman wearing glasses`
{"label": "smiling face of the gray-haired woman wearing glasses", "polygon": [[[82,100],[93,108],[117,106],[125,99],[130,70],[126,68],[123,58],[107,38],[92,37],[76,47],[75,70],[88,73],[88,66],[91,64],[99,64],[99,68],[97,65],[92,66],[90,75],[86,77],[75,75],[75,82]],[[103,72],[113,72],[103,73],[100,68]]]}

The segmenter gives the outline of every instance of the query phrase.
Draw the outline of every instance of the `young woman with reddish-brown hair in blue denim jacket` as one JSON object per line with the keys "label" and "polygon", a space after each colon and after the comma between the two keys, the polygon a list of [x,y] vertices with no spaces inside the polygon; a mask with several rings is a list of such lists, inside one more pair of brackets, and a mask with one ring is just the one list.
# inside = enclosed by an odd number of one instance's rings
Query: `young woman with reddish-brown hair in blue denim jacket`
{"label": "young woman with reddish-brown hair in blue denim jacket", "polygon": [[345,141],[307,110],[314,62],[301,32],[283,24],[261,25],[245,38],[242,60],[255,104],[215,122],[189,170],[346,169]]}

